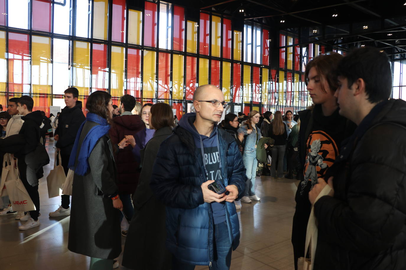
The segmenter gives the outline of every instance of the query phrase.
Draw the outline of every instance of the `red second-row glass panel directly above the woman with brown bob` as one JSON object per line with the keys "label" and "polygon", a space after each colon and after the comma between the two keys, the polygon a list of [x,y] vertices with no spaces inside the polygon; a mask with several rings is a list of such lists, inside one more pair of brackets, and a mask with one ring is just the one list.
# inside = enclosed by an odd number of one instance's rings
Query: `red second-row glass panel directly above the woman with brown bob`
{"label": "red second-row glass panel directly above the woman with brown bob", "polygon": [[158,59],[158,98],[169,98],[171,87],[171,55],[169,53],[159,53]]}

